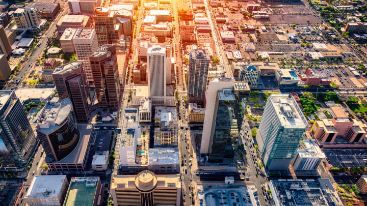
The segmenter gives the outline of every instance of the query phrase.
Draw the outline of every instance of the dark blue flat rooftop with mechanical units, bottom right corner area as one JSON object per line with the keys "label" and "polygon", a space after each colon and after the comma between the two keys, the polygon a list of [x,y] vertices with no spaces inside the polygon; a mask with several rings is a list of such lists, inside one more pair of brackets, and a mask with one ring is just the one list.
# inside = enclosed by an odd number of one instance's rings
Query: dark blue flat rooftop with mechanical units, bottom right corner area
{"label": "dark blue flat rooftop with mechanical units, bottom right corner area", "polygon": [[271,180],[269,187],[279,205],[343,205],[329,179]]}

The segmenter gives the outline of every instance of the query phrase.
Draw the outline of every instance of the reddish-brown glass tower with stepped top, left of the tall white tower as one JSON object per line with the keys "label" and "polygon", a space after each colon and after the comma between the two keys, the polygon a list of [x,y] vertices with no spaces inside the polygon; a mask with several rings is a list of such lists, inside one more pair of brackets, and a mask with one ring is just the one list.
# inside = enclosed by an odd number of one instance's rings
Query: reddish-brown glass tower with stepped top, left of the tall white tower
{"label": "reddish-brown glass tower with stepped top, left of the tall white tower", "polygon": [[89,57],[100,107],[119,107],[120,81],[116,60],[116,45],[106,44]]}

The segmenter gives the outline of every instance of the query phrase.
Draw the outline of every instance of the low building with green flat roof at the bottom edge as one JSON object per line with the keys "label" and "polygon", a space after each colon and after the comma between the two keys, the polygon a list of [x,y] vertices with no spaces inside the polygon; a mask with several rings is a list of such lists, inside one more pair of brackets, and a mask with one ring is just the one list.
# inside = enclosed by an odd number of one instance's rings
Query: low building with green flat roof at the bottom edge
{"label": "low building with green flat roof at the bottom edge", "polygon": [[98,176],[72,178],[65,197],[64,206],[93,205],[97,198]]}

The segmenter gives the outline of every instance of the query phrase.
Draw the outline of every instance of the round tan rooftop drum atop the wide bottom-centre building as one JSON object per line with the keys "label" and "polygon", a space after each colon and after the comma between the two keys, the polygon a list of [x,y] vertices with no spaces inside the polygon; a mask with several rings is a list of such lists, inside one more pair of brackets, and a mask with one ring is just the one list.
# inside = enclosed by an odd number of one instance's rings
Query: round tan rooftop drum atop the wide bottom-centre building
{"label": "round tan rooftop drum atop the wide bottom-centre building", "polygon": [[151,192],[157,184],[156,175],[152,171],[139,172],[135,178],[135,187],[141,192]]}

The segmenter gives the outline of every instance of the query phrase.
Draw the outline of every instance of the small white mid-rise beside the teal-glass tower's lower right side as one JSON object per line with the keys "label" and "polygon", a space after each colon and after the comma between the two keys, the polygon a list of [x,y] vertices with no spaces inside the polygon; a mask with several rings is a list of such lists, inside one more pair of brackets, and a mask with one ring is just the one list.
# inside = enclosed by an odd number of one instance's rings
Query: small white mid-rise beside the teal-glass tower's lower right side
{"label": "small white mid-rise beside the teal-glass tower's lower right side", "polygon": [[317,171],[320,162],[325,157],[314,139],[305,139],[293,159],[293,169],[295,171]]}

